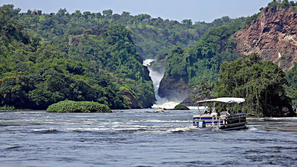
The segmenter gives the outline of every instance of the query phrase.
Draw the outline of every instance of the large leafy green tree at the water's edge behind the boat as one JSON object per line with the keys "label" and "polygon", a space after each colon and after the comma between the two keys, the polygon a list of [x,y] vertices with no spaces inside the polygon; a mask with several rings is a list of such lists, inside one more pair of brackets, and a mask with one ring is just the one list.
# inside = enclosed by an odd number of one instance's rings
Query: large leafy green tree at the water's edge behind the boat
{"label": "large leafy green tree at the water's edge behind the boat", "polygon": [[246,99],[244,111],[257,116],[277,115],[281,107],[290,110],[291,99],[285,95],[285,73],[271,61],[261,61],[258,54],[224,62],[218,75],[217,97]]}

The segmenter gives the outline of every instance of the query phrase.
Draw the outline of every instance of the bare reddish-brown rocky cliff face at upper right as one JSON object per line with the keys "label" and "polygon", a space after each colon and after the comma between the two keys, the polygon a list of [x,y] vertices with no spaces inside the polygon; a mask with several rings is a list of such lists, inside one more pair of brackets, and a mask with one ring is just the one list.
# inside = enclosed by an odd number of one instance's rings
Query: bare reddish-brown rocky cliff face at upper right
{"label": "bare reddish-brown rocky cliff face at upper right", "polygon": [[257,20],[235,34],[242,54],[256,52],[284,71],[297,60],[297,13],[292,8],[266,7]]}

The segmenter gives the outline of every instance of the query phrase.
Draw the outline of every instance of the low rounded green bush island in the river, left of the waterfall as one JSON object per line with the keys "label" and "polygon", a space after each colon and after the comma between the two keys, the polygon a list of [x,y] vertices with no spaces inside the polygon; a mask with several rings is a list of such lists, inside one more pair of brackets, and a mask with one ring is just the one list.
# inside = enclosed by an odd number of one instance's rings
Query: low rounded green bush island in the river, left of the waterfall
{"label": "low rounded green bush island in the river, left of the waterfall", "polygon": [[107,105],[97,102],[61,101],[52,104],[46,110],[48,113],[112,113]]}

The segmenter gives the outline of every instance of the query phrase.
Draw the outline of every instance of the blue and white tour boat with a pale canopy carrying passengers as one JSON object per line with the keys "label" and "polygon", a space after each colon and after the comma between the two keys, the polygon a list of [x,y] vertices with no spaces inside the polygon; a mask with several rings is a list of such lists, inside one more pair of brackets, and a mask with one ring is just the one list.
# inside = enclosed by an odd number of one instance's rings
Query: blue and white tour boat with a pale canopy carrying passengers
{"label": "blue and white tour boat with a pale canopy carrying passengers", "polygon": [[[221,111],[217,115],[206,114],[207,111],[207,104],[211,103],[211,107],[215,110],[215,103],[216,102],[223,102],[226,103],[227,109]],[[197,126],[198,128],[214,128],[214,129],[222,129],[222,130],[238,130],[238,129],[245,129],[246,121],[246,114],[238,110],[236,112],[236,105],[244,104],[244,98],[236,98],[236,97],[221,97],[217,99],[208,99],[198,101],[198,112],[197,115],[193,115],[193,126]],[[205,104],[204,109],[201,111],[199,109],[199,104]],[[233,105],[231,108],[230,105]],[[229,109],[230,107],[230,109]],[[213,110],[213,111],[214,111]],[[217,111],[217,110],[216,110]]]}

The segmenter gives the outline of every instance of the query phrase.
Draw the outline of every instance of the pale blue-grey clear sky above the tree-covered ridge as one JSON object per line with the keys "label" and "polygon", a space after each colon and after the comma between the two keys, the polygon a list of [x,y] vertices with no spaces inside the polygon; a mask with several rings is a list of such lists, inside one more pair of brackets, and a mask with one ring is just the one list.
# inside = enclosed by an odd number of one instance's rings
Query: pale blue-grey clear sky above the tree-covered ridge
{"label": "pale blue-grey clear sky above the tree-covered ridge", "polygon": [[112,9],[113,14],[130,12],[131,15],[149,14],[153,18],[177,20],[191,19],[192,22],[212,22],[223,16],[236,18],[251,16],[260,12],[272,0],[0,0],[0,5],[14,4],[21,12],[28,9],[42,10],[42,13],[56,13],[64,9],[71,14],[101,12]]}

